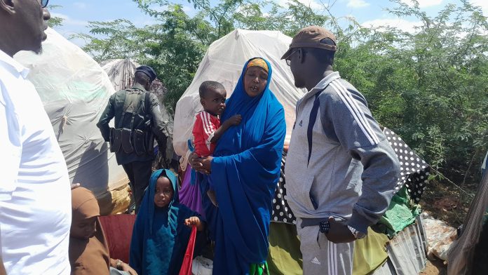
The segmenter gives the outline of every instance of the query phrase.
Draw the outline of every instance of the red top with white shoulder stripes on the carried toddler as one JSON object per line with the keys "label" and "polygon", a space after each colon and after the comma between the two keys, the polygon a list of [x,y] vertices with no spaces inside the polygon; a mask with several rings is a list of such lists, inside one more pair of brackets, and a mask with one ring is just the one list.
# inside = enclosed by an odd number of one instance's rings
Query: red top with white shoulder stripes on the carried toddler
{"label": "red top with white shoulder stripes on the carried toddler", "polygon": [[196,114],[193,128],[195,152],[198,156],[211,156],[215,150],[215,143],[211,143],[215,130],[220,127],[220,119],[208,112]]}

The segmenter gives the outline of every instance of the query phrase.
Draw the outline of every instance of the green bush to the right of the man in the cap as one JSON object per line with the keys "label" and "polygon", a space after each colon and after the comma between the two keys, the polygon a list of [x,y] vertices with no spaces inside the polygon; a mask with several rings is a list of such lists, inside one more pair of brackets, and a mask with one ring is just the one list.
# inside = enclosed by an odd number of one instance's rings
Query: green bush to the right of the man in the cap
{"label": "green bush to the right of the man in the cap", "polygon": [[374,116],[455,182],[479,182],[487,150],[487,18],[462,1],[435,18],[395,1],[415,33],[370,29],[339,52],[336,68],[367,97]]}

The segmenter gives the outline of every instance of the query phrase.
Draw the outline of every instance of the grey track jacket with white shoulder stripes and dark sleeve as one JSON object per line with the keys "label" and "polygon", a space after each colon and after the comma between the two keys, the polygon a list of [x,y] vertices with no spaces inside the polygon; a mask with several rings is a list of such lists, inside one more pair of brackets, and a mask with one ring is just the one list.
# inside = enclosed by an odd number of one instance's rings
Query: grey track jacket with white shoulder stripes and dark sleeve
{"label": "grey track jacket with white shoulder stripes and dark sleeve", "polygon": [[399,171],[365,98],[338,72],[297,102],[285,166],[294,215],[334,216],[367,233],[388,209]]}

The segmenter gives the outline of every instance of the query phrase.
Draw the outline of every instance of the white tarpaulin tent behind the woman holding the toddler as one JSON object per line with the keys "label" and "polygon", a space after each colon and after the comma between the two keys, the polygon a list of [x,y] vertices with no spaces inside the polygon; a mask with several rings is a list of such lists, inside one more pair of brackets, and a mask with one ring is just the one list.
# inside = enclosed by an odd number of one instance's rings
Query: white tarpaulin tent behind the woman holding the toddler
{"label": "white tarpaulin tent behind the woman holding the toddler", "polygon": [[285,107],[287,138],[290,141],[295,116],[295,105],[304,90],[294,86],[292,72],[285,60],[280,60],[292,39],[281,32],[248,31],[236,29],[215,41],[208,48],[191,85],[185,90],[175,110],[173,146],[179,156],[188,150],[187,140],[191,138],[194,118],[202,110],[198,87],[203,81],[219,81],[227,90],[227,97],[233,92],[244,63],[250,58],[262,57],[271,63],[273,76],[270,88]]}

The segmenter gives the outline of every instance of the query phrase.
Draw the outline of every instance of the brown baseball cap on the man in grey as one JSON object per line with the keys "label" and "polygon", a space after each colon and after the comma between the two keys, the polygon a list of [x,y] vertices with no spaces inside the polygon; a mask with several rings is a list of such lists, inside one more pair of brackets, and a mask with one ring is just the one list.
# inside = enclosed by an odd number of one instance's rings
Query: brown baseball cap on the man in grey
{"label": "brown baseball cap on the man in grey", "polygon": [[290,48],[288,51],[281,57],[281,59],[285,59],[290,55],[293,51],[293,48],[323,48],[324,50],[328,51],[337,51],[336,45],[328,45],[326,43],[320,43],[322,39],[330,39],[336,43],[336,39],[332,32],[329,32],[327,29],[318,26],[309,26],[300,29],[300,31],[293,36],[292,43],[290,44]]}

